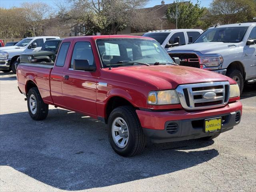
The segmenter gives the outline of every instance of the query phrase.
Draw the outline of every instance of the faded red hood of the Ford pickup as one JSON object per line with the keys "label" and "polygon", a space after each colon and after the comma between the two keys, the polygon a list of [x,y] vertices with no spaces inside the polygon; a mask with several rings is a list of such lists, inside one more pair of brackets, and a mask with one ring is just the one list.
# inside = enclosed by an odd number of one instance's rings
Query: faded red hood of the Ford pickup
{"label": "faded red hood of the Ford pickup", "polygon": [[[112,72],[154,84],[159,90],[175,89],[180,84],[229,81],[231,78],[208,70],[186,66],[126,66],[112,68]],[[119,81],[121,81],[119,79]]]}

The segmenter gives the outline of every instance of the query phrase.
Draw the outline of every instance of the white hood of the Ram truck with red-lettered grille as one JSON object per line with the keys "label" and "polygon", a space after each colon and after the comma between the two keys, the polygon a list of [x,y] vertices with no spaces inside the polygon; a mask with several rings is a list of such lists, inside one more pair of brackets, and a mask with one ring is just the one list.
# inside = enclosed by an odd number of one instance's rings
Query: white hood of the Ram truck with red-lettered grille
{"label": "white hood of the Ram truck with red-lettered grille", "polygon": [[188,45],[178,46],[173,48],[172,51],[198,51],[202,54],[217,54],[223,49],[233,49],[235,46],[229,47],[230,45],[237,46],[237,43],[223,43],[223,42],[202,42],[192,43]]}

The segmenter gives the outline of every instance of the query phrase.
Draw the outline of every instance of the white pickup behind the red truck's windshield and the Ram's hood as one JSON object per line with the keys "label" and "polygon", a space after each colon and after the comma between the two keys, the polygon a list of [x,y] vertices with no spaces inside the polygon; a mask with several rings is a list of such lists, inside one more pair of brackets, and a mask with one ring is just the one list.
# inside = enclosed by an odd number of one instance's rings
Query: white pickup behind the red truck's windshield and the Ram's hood
{"label": "white pickup behind the red truck's windshield and the Ram's hood", "polygon": [[170,51],[175,46],[192,43],[202,32],[202,29],[170,29],[149,31],[142,36],[157,40],[162,48]]}

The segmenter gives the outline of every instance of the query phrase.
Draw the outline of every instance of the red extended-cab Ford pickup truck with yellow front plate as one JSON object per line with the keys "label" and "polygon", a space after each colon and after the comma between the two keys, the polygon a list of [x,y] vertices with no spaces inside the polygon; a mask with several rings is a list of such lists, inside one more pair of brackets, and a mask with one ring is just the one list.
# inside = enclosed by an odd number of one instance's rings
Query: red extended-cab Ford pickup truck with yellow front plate
{"label": "red extended-cab Ford pickup truck with yellow front plate", "polygon": [[17,76],[32,119],[45,119],[50,104],[102,120],[122,156],[140,153],[147,139],[215,138],[242,115],[234,80],[178,66],[147,37],[66,38],[55,63],[21,63]]}

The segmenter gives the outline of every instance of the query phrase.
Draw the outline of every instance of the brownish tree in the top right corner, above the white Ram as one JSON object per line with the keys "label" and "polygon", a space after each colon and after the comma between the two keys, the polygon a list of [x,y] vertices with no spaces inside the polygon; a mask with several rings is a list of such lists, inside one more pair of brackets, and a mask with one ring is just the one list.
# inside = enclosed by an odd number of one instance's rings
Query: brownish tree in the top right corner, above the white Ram
{"label": "brownish tree in the top right corner, above the white Ram", "polygon": [[251,21],[256,16],[256,0],[214,0],[209,11],[221,24]]}

